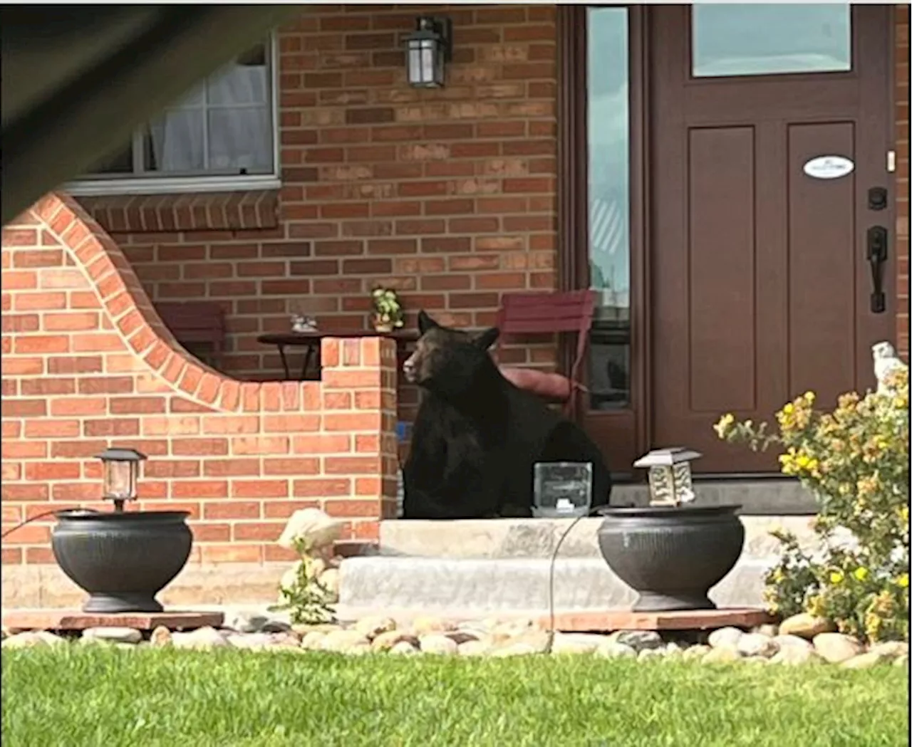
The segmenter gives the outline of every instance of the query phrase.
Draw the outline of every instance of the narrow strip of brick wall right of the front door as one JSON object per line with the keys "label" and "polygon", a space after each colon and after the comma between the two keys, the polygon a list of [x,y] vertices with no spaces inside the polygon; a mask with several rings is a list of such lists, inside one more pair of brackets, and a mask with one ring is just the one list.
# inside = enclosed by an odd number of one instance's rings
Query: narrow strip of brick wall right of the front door
{"label": "narrow strip of brick wall right of the front door", "polygon": [[909,6],[896,6],[896,341],[909,354]]}

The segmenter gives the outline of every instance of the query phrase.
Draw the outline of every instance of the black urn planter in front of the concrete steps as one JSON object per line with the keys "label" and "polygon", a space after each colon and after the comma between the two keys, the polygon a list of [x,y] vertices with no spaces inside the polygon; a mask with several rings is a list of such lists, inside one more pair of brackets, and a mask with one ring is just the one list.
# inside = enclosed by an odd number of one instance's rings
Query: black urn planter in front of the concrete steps
{"label": "black urn planter in front of the concrete steps", "polygon": [[598,547],[608,567],[637,592],[635,612],[716,609],[710,588],[744,547],[740,506],[605,508]]}

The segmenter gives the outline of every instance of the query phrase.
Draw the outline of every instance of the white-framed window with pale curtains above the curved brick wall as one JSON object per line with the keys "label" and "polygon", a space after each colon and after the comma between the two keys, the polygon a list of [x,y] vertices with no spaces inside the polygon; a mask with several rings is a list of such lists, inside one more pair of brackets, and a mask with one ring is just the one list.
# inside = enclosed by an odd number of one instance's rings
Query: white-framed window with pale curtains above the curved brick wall
{"label": "white-framed window with pale curtains above the curved brick wall", "polygon": [[235,57],[67,189],[88,195],[273,186],[273,49],[270,40]]}

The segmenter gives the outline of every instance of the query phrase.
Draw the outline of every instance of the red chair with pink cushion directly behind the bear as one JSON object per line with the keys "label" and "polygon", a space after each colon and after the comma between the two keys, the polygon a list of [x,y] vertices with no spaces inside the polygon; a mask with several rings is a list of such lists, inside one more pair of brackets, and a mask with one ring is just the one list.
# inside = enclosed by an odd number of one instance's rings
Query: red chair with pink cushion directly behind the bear
{"label": "red chair with pink cushion directly behind the bear", "polygon": [[552,402],[564,404],[565,414],[575,414],[576,393],[586,391],[579,382],[579,370],[586,357],[589,328],[596,308],[595,291],[554,293],[504,293],[497,312],[501,331],[497,349],[504,337],[516,334],[576,334],[576,357],[570,375],[544,373],[531,368],[500,366],[503,376],[515,386]]}

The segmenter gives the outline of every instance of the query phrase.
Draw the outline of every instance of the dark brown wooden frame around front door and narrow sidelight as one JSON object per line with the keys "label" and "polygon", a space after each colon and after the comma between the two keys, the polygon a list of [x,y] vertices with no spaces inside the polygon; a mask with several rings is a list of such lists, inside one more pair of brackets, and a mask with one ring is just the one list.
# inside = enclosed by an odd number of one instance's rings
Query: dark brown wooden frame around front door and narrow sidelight
{"label": "dark brown wooden frame around front door and narrow sidelight", "polygon": [[[587,148],[587,12],[592,5],[558,5],[557,36],[557,283],[562,291],[589,286],[588,261],[588,148]],[[595,6],[597,7],[597,5]],[[614,5],[612,7],[617,7]],[[652,445],[652,283],[650,231],[654,216],[650,173],[652,126],[650,118],[653,74],[650,50],[651,17],[660,6],[627,7],[629,52],[630,138],[630,407],[618,411],[591,411],[586,393],[578,393],[576,412],[596,444],[612,445],[613,473],[621,479],[634,477],[632,462]],[[853,9],[853,14],[857,9]],[[886,138],[896,148],[896,24],[893,14],[884,14],[887,50]],[[855,34],[853,24],[853,34]],[[687,45],[689,48],[690,39]],[[855,47],[855,37],[853,37]],[[886,153],[884,154],[886,159]],[[888,313],[896,319],[896,171],[884,173],[891,196],[885,211],[889,230],[889,255],[885,287],[892,289],[894,303]],[[892,282],[889,282],[892,281]],[[888,295],[888,298],[890,296]],[[891,325],[896,343],[896,322]],[[562,339],[558,364],[569,371],[575,356],[573,341]],[[725,477],[732,478],[734,475]]]}

